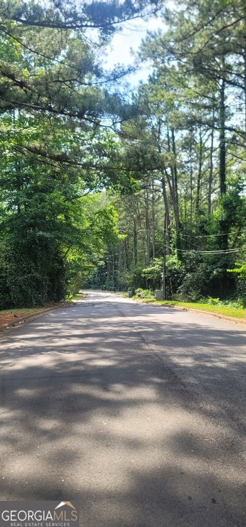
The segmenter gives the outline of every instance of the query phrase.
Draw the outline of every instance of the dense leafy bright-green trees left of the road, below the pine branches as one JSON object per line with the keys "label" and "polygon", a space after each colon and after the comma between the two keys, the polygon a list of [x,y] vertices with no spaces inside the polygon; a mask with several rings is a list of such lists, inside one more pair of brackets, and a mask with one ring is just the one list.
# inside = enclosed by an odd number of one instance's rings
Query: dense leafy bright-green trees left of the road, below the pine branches
{"label": "dense leafy bright-green trees left of the road, below the pine branches", "polygon": [[[2,220],[3,307],[42,306],[63,300],[67,289],[77,292],[106,243],[117,240],[117,214],[100,194],[74,201],[64,174],[61,184],[45,165],[38,176],[28,159],[22,167],[17,183],[15,172],[2,180],[9,209]],[[19,190],[9,192],[9,182]]]}

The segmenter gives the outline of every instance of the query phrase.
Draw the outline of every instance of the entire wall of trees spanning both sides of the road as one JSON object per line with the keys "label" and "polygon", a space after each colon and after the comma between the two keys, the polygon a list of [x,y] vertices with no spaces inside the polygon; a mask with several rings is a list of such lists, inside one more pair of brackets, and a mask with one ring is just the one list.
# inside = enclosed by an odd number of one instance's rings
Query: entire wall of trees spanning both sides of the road
{"label": "entire wall of trees spanning both sides of the road", "polygon": [[[102,67],[121,24],[158,13],[129,69]],[[82,285],[245,302],[242,0],[2,3],[2,307]],[[94,32],[94,33],[93,33]],[[231,272],[231,271],[232,272]]]}

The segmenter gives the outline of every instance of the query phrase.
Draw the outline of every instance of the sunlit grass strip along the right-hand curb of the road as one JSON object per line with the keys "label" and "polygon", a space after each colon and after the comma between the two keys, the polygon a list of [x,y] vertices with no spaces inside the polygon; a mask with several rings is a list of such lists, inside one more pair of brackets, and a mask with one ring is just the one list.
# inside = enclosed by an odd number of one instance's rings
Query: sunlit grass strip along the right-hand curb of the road
{"label": "sunlit grass strip along the right-hand curb of the road", "polygon": [[137,302],[144,302],[144,304],[151,303],[159,306],[180,306],[188,309],[200,309],[202,311],[208,311],[209,313],[216,313],[226,317],[246,319],[246,309],[238,309],[235,307],[199,304],[199,302],[181,302],[180,300],[155,300],[154,298],[134,297],[134,300]]}

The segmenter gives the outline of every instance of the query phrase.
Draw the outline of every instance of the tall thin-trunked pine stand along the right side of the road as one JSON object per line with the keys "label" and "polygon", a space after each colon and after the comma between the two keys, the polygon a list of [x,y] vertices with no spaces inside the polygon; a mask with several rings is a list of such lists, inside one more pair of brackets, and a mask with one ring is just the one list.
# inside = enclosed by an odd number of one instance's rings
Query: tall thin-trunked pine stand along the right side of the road
{"label": "tall thin-trunked pine stand along the right side of the road", "polygon": [[245,17],[243,2],[176,3],[142,43],[152,73],[121,127],[140,181],[119,205],[122,288],[162,287],[165,246],[170,298],[245,302]]}

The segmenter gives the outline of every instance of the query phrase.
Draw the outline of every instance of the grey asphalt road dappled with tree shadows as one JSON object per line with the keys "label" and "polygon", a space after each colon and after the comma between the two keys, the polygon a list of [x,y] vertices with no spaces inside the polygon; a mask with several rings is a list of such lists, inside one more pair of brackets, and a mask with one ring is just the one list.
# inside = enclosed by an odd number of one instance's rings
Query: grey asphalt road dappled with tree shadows
{"label": "grey asphalt road dappled with tree shadows", "polygon": [[246,525],[246,331],[90,292],[0,337],[0,500],[81,527]]}

